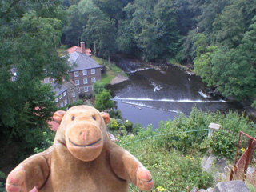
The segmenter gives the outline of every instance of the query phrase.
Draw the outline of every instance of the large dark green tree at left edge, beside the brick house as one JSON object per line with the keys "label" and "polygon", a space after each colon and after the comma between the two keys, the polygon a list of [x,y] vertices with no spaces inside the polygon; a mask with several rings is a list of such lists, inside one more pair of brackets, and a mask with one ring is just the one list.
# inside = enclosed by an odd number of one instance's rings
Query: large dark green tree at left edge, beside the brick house
{"label": "large dark green tree at left edge, beside the brick house", "polygon": [[[70,67],[59,58],[60,1],[2,1],[0,6],[0,134],[31,153],[37,135],[56,110],[44,78],[67,77]],[[34,137],[34,139],[32,139]]]}

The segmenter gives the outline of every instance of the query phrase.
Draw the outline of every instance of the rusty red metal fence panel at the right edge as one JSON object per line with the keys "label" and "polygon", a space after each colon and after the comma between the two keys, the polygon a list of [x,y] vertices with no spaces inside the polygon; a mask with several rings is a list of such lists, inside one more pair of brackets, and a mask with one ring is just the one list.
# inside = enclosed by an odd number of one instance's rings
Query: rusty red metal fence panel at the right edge
{"label": "rusty red metal fence panel at the right edge", "polygon": [[238,149],[235,157],[234,167],[230,173],[230,180],[243,180],[256,188],[256,137],[240,131]]}

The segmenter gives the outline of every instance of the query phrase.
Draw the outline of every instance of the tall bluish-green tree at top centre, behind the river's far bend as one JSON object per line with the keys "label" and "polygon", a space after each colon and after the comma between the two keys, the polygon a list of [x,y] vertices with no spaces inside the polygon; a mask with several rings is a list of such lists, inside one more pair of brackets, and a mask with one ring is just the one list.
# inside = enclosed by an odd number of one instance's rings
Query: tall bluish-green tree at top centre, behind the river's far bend
{"label": "tall bluish-green tree at top centre, behind the river's far bend", "polygon": [[[135,0],[124,10],[126,22],[121,22],[118,31],[118,42],[122,42],[121,50],[132,48],[130,44],[135,42],[142,51],[142,58],[146,60],[154,60],[166,52],[173,53],[176,50],[178,34],[172,1]],[[126,29],[128,35],[123,31]]]}

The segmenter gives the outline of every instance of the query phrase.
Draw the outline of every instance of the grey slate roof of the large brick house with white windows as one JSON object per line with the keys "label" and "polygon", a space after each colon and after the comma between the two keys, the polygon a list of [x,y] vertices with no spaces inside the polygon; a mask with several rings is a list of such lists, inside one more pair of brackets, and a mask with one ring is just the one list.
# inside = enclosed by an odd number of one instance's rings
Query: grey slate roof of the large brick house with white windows
{"label": "grey slate roof of the large brick house with white windows", "polygon": [[68,61],[71,64],[76,63],[76,66],[70,70],[70,72],[78,71],[78,70],[90,70],[95,68],[101,68],[102,66],[98,65],[94,59],[90,58],[87,54],[82,54],[79,52],[73,52],[70,54],[70,58]]}

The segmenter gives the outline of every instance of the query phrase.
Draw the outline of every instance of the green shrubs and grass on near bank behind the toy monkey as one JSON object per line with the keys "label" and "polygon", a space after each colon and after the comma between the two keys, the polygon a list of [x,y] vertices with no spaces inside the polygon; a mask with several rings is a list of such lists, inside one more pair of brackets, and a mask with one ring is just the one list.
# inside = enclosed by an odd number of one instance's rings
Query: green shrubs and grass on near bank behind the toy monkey
{"label": "green shrubs and grass on near bank behind the toy monkey", "polygon": [[[189,117],[180,114],[174,120],[159,122],[154,131],[150,125],[144,128],[139,124],[132,125],[123,120],[118,111],[111,111],[110,116],[111,121],[107,124],[110,133],[118,138],[118,145],[130,150],[153,174],[154,192],[190,191],[193,186],[198,189],[214,187],[213,175],[203,171],[201,166],[206,151],[212,148],[216,156],[233,162],[239,130],[256,135],[254,122],[233,112],[209,113],[193,108]],[[206,128],[210,122],[237,135],[214,132],[214,137],[208,139]],[[42,138],[44,142],[34,149],[35,153],[52,145],[54,133],[44,132]],[[130,191],[139,190],[130,186]]]}

